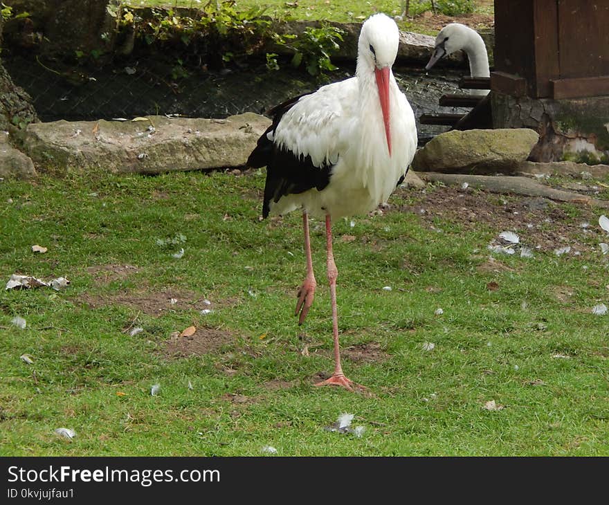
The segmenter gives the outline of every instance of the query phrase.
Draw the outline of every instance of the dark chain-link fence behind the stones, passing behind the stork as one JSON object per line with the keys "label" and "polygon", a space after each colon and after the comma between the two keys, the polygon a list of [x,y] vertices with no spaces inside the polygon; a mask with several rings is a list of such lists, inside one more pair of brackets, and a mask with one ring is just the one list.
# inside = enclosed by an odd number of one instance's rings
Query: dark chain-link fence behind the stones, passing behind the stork
{"label": "dark chain-link fence behind the stones, passing behind the stork", "polygon": [[[203,71],[170,66],[158,59],[138,59],[103,68],[60,64],[23,56],[5,57],[16,84],[33,98],[39,117],[51,120],[133,118],[147,114],[225,118],[246,111],[262,113],[287,98],[311,91],[318,83],[288,65],[266,71],[264,64],[232,71]],[[352,75],[341,68],[334,80]],[[426,74],[420,68],[396,68],[394,73],[417,118],[419,136],[428,137],[446,127],[419,125],[422,113],[466,112],[439,107],[444,93],[458,91],[460,71]]]}

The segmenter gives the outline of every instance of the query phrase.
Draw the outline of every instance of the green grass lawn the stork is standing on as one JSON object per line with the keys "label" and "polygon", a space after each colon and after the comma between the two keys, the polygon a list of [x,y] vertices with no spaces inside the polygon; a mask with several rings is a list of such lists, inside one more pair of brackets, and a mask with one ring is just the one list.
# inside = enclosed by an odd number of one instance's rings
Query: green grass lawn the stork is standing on
{"label": "green grass lawn the stork is standing on", "polygon": [[[313,387],[332,369],[323,227],[312,223],[320,286],[298,327],[301,220],[260,221],[263,186],[264,170],[0,182],[3,282],[71,281],[0,292],[2,455],[609,455],[596,221],[579,256],[536,251],[492,268],[486,247],[503,229],[430,226],[417,208],[433,187],[338,221],[343,367],[360,394]],[[573,223],[590,212],[558,208]],[[191,325],[192,340],[176,336]],[[486,410],[491,400],[503,408]],[[324,429],[343,412],[362,437]]]}

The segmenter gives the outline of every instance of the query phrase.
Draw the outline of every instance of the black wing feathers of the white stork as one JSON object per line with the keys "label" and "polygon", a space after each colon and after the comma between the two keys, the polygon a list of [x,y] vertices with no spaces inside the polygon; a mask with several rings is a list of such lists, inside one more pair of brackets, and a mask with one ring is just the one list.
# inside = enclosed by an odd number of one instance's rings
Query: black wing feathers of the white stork
{"label": "black wing feathers of the white stork", "polygon": [[282,196],[299,194],[311,190],[323,190],[330,182],[330,172],[334,164],[324,163],[320,167],[313,165],[311,156],[296,156],[289,149],[280,148],[267,134],[275,135],[281,118],[300,98],[300,95],[270,109],[267,114],[273,117],[273,123],[258,139],[257,145],[247,160],[248,167],[260,168],[266,165],[266,183],[264,185],[264,203],[262,217],[269,215],[271,201],[277,203]]}

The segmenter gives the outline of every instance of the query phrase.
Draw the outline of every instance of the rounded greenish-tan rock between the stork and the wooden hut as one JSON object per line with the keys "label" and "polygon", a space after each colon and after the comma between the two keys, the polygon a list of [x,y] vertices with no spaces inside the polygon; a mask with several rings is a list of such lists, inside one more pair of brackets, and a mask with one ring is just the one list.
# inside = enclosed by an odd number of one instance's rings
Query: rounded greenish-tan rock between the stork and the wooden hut
{"label": "rounded greenish-tan rock between the stork and the wooden hut", "polygon": [[513,172],[538,138],[536,131],[526,128],[446,131],[417,151],[412,168],[417,172]]}

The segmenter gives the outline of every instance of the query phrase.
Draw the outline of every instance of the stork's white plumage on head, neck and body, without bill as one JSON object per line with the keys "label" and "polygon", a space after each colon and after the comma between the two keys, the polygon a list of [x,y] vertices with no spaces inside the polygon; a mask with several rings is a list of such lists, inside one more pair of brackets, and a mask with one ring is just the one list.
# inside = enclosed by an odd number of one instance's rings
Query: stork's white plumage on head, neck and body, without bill
{"label": "stork's white plumage on head, neck and body, without bill", "polygon": [[271,202],[272,214],[302,208],[336,219],[370,212],[388,200],[406,173],[417,149],[415,116],[389,69],[392,142],[386,138],[374,73],[375,66],[393,63],[399,33],[384,15],[370,18],[367,24],[359,39],[356,77],[303,96],[284,113],[275,134],[269,132],[275,145],[298,157],[311,156],[316,167],[334,165],[323,190],[286,194]]}

